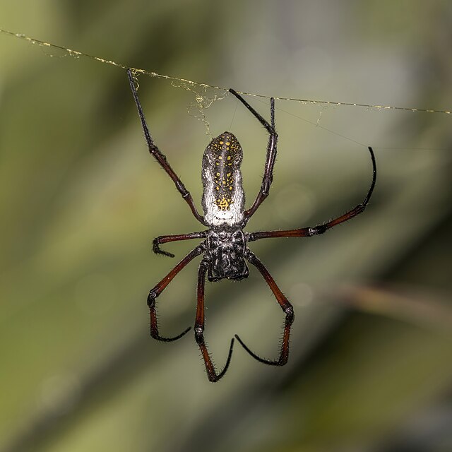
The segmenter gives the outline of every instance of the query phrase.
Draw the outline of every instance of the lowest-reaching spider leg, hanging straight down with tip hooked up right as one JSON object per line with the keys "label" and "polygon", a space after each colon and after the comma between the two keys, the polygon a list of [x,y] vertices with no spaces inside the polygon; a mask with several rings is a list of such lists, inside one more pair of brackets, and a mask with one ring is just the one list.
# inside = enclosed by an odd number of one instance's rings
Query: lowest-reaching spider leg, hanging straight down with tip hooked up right
{"label": "lowest-reaching spider leg, hanging straight down with tip hooked up right", "polygon": [[196,303],[196,321],[195,321],[195,339],[196,343],[199,346],[199,350],[201,350],[201,355],[204,359],[204,364],[206,364],[206,371],[209,381],[215,383],[226,374],[227,368],[231,362],[232,357],[232,348],[234,347],[234,338],[231,339],[231,345],[229,349],[229,354],[227,355],[227,361],[225,367],[223,367],[222,371],[218,374],[215,370],[215,366],[213,365],[212,359],[210,358],[209,352],[207,350],[207,345],[204,340],[204,286],[206,284],[206,273],[208,270],[208,261],[201,261],[201,265],[198,270],[198,290],[197,290],[197,299]]}

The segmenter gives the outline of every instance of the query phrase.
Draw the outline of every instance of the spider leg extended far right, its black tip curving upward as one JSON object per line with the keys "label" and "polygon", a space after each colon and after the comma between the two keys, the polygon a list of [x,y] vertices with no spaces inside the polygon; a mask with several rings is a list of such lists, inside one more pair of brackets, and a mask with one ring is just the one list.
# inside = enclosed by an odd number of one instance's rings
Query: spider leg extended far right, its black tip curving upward
{"label": "spider leg extended far right, its black tip curving upward", "polygon": [[254,242],[255,240],[258,239],[271,239],[275,237],[312,237],[313,235],[323,234],[323,232],[326,232],[328,229],[331,229],[331,227],[340,225],[340,223],[351,220],[356,215],[359,215],[359,213],[364,212],[364,209],[366,208],[372,196],[372,192],[374,191],[376,182],[376,161],[374,151],[370,146],[369,153],[372,160],[373,176],[371,186],[369,188],[369,191],[367,192],[367,196],[366,198],[364,198],[364,201],[362,201],[361,204],[358,204],[356,207],[352,208],[352,210],[349,210],[347,213],[344,213],[344,215],[340,215],[340,217],[334,218],[333,220],[328,221],[323,225],[317,225],[314,227],[302,227],[301,229],[285,231],[251,232],[251,234],[248,235],[248,242]]}

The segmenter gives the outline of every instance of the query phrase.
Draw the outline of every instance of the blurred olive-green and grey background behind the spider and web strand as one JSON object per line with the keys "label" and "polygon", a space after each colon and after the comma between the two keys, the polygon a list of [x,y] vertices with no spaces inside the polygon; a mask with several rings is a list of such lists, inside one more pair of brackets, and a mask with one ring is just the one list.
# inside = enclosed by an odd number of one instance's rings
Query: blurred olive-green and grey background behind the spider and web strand
{"label": "blurred olive-green and grey background behind the spider and web strand", "polygon": [[[245,92],[452,107],[449,0],[3,1],[0,27]],[[175,263],[151,241],[200,227],[148,155],[125,71],[2,34],[0,55],[2,452],[452,451],[451,115],[277,102],[275,180],[247,230],[355,206],[367,145],[376,190],[324,236],[250,245],[294,304],[290,362],[236,344],[212,384],[192,333],[148,335],[146,295]],[[210,138],[195,95],[139,81],[200,206]],[[247,99],[268,117],[268,100]],[[232,96],[204,113],[241,141],[251,202],[266,133]],[[195,242],[166,249],[182,258]],[[197,263],[158,299],[166,335],[194,322]],[[218,367],[234,333],[277,355],[283,314],[255,269],[206,290]]]}

